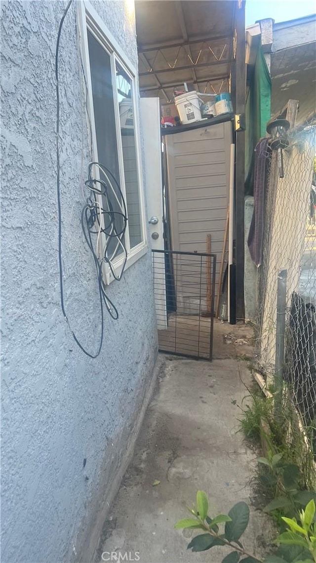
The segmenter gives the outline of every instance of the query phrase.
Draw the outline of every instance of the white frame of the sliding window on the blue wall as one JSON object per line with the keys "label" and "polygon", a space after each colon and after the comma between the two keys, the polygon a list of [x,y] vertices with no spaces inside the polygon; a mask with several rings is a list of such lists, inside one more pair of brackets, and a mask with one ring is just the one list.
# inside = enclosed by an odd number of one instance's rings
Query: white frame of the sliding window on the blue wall
{"label": "white frame of the sliding window on the blue wall", "polygon": [[[139,132],[139,95],[138,95],[138,80],[137,80],[137,69],[128,60],[124,51],[121,49],[119,43],[111,34],[110,30],[107,28],[105,23],[102,21],[101,17],[98,15],[96,10],[88,0],[83,0],[78,2],[78,27],[80,32],[80,48],[82,50],[82,58],[85,72],[85,79],[87,81],[87,111],[89,115],[89,121],[91,124],[91,142],[92,142],[92,155],[93,160],[98,162],[98,151],[97,151],[97,137],[96,137],[96,127],[94,122],[94,108],[93,108],[93,96],[92,96],[92,83],[91,83],[91,72],[90,72],[90,61],[89,61],[89,48],[88,48],[88,34],[87,29],[91,32],[94,37],[100,42],[102,47],[110,56],[111,61],[111,73],[112,73],[112,84],[113,84],[113,96],[114,96],[114,109],[115,109],[115,126],[116,126],[116,143],[118,148],[118,160],[119,160],[119,174],[120,174],[120,187],[123,193],[125,202],[126,191],[125,191],[125,179],[124,179],[124,160],[123,160],[123,148],[121,141],[121,130],[120,130],[120,113],[119,113],[119,103],[118,94],[116,90],[116,61],[125,70],[131,79],[132,85],[132,103],[134,112],[134,138],[136,145],[136,158],[137,158],[137,175],[138,175],[138,193],[139,193],[139,213],[141,218],[141,233],[142,242],[136,247],[130,248],[129,239],[129,225],[127,221],[127,228],[125,231],[125,246],[127,248],[127,263],[125,265],[125,270],[132,266],[139,258],[147,253],[147,226],[145,220],[145,196],[143,190],[143,170],[142,170],[142,160],[141,160],[141,142],[140,142],[140,132]],[[96,177],[98,178],[98,170],[94,171]],[[97,198],[101,202],[101,198]],[[103,234],[103,237],[106,235]],[[103,238],[103,248],[105,240]],[[112,262],[114,269],[120,272],[121,266],[124,262],[124,256],[119,255]],[[112,275],[110,266],[103,262],[103,280],[109,284],[115,278]]]}

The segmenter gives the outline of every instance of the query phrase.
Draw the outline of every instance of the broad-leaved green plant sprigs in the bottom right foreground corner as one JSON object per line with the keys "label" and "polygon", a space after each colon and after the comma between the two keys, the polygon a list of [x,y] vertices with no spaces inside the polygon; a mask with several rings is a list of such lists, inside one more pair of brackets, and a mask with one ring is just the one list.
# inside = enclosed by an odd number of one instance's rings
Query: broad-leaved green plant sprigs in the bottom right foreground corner
{"label": "broad-leaved green plant sprigs in the bottom right foreground corner", "polygon": [[[275,461],[275,463],[277,462]],[[223,546],[230,547],[232,551],[223,558],[222,563],[285,563],[294,560],[297,563],[303,563],[303,561],[316,563],[315,503],[313,500],[307,504],[305,511],[300,512],[299,522],[296,519],[283,517],[288,529],[274,542],[279,545],[276,554],[269,555],[264,560],[251,555],[240,542],[249,524],[250,512],[245,502],[234,504],[227,515],[219,514],[211,518],[208,514],[209,501],[206,493],[197,491],[196,506],[188,508],[188,511],[190,517],[179,520],[175,524],[175,529],[201,529],[204,531],[203,534],[196,535],[189,542],[187,548],[192,549],[193,552]]]}

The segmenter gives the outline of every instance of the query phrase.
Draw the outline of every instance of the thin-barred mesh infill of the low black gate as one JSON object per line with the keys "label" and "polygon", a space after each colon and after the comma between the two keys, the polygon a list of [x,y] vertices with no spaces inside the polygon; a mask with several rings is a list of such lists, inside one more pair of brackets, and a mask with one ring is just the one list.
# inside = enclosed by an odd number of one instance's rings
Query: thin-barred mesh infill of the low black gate
{"label": "thin-barred mesh infill of the low black gate", "polygon": [[152,251],[159,351],[211,360],[216,255]]}

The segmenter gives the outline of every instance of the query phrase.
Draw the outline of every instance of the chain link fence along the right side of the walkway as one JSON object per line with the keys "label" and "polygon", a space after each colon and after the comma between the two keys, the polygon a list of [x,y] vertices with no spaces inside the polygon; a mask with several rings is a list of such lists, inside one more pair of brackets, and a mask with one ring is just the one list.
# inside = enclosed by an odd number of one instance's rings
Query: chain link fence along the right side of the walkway
{"label": "chain link fence along the right side of the walkway", "polygon": [[[289,138],[290,144],[283,150],[283,178],[279,177],[277,151],[270,150],[265,143],[256,360],[267,386],[274,390],[278,365],[282,365],[283,388],[287,389],[316,453],[315,120],[293,129]],[[283,311],[282,307],[279,309],[282,295],[278,294],[281,270],[286,276]],[[282,315],[284,354],[278,329]]]}

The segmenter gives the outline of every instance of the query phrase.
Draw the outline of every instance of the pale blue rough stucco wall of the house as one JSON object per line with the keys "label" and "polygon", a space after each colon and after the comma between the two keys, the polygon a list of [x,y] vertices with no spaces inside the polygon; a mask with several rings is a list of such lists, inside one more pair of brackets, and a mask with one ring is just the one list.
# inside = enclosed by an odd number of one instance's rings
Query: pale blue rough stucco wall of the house
{"label": "pale blue rough stucco wall of the house", "polygon": [[[92,5],[137,65],[134,21],[124,2]],[[108,288],[120,316],[114,321],[105,312],[97,359],[79,350],[61,314],[54,65],[65,7],[55,0],[1,3],[1,549],[6,563],[78,561],[93,549],[92,531],[97,535],[112,481],[120,477],[157,348],[149,253]],[[74,3],[60,44],[65,299],[76,334],[96,351],[98,288],[80,225],[88,140],[75,24]]]}

